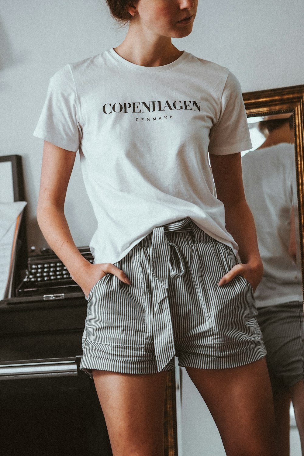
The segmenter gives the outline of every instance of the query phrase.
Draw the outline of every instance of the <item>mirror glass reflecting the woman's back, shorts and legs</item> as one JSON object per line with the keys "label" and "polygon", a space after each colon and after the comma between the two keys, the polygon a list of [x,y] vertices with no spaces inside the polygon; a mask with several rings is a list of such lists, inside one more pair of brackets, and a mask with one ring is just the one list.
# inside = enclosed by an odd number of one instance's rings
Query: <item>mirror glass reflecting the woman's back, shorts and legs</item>
{"label": "mirror glass reflecting the woman's back, shorts and legs", "polygon": [[273,388],[279,454],[289,455],[291,403],[304,454],[303,288],[294,115],[249,117],[248,125],[253,147],[242,153],[242,172],[264,265],[255,297]]}

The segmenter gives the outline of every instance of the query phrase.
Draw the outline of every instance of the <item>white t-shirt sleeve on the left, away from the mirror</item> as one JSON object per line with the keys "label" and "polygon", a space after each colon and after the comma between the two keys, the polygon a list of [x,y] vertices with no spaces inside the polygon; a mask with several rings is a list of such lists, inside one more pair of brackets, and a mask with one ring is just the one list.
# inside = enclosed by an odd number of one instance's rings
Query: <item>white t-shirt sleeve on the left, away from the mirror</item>
{"label": "white t-shirt sleeve on the left, away from the mirror", "polygon": [[77,93],[69,65],[50,79],[34,136],[76,152],[82,130],[77,120]]}

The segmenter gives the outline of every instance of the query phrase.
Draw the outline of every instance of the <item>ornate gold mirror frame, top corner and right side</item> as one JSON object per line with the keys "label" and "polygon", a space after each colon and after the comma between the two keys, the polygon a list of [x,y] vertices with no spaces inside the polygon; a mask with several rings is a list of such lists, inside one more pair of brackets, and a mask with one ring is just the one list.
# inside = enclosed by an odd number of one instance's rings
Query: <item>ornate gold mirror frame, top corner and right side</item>
{"label": "ornate gold mirror frame, top corner and right side", "polygon": [[[304,285],[304,85],[243,93],[247,117],[292,113],[298,188],[302,283]],[[303,286],[304,292],[304,286]]]}

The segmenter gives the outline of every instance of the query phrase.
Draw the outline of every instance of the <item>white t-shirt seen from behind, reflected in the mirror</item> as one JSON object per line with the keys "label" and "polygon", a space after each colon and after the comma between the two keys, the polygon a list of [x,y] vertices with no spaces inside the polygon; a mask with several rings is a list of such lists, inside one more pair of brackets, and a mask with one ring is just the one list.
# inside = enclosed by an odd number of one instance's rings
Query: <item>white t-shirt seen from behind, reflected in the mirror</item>
{"label": "white t-shirt seen from behind, reflected in the mirror", "polygon": [[291,207],[297,211],[294,145],[248,152],[242,157],[242,173],[264,265],[255,292],[257,306],[302,301],[301,271],[288,253]]}

